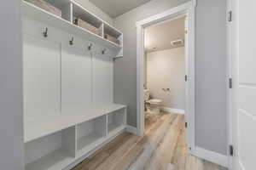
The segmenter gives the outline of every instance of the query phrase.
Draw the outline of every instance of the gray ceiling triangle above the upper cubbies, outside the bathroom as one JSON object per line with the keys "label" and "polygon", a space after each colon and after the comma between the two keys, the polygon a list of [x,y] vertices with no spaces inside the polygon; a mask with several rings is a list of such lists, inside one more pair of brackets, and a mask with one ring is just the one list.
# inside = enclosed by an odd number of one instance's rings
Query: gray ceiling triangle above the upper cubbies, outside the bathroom
{"label": "gray ceiling triangle above the upper cubbies, outside the bathroom", "polygon": [[96,7],[101,8],[106,14],[115,18],[125,14],[133,8],[137,8],[150,0],[90,0]]}

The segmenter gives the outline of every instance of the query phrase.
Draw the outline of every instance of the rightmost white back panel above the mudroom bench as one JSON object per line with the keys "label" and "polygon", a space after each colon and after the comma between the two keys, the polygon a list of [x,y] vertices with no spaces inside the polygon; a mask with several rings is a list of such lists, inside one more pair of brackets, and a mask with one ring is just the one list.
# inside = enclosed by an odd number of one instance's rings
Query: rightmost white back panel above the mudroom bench
{"label": "rightmost white back panel above the mudroom bench", "polygon": [[93,53],[93,88],[96,104],[113,103],[113,59]]}

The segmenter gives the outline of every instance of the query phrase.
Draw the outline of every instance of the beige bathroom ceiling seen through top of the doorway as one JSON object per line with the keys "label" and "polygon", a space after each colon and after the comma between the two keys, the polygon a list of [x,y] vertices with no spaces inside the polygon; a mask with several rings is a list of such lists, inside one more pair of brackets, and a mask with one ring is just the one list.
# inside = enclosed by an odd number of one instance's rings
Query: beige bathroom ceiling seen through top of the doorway
{"label": "beige bathroom ceiling seen through top of the doorway", "polygon": [[[145,50],[153,52],[173,47],[171,41],[184,39],[185,18],[166,20],[145,29]],[[183,46],[183,45],[182,45]],[[179,46],[180,47],[180,46]]]}

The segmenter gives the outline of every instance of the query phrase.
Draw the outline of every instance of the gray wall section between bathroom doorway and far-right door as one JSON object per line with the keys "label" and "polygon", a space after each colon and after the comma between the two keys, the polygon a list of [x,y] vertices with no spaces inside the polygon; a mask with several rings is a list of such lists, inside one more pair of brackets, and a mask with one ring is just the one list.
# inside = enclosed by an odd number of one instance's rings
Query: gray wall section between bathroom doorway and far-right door
{"label": "gray wall section between bathroom doorway and far-right door", "polygon": [[195,20],[195,144],[224,155],[227,145],[225,11],[225,0],[198,0]]}

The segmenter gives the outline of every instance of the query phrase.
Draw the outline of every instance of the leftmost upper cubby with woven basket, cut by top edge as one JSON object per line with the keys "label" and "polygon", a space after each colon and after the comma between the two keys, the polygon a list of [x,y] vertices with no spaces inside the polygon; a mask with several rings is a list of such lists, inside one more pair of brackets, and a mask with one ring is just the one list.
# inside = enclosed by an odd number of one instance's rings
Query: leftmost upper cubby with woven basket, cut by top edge
{"label": "leftmost upper cubby with woven basket, cut by top edge", "polygon": [[62,19],[71,21],[70,0],[23,0]]}

